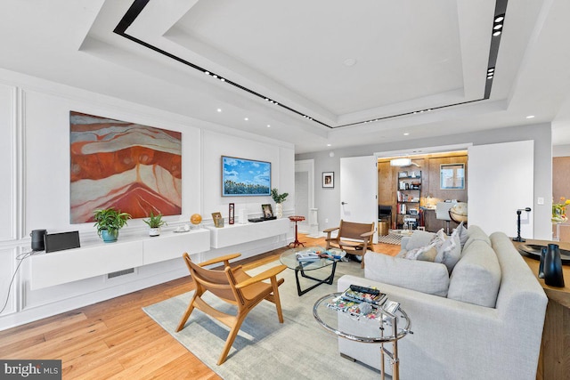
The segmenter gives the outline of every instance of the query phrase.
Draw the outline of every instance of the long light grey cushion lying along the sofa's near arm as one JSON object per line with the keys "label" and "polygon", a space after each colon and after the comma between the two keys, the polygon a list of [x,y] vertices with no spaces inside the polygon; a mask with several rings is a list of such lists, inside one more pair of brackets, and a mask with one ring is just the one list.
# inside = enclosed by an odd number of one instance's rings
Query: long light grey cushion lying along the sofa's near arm
{"label": "long light grey cushion lying along the sofa's near arm", "polygon": [[429,295],[445,296],[449,287],[449,275],[444,264],[375,252],[364,255],[364,277]]}

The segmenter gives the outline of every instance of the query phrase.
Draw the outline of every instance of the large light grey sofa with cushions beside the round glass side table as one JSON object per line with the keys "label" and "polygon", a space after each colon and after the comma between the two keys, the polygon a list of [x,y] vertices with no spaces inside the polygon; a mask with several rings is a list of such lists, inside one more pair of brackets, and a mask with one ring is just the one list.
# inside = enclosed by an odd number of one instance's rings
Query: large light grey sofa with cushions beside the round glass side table
{"label": "large light grey sofa with cushions beside the round glass side table", "polygon": [[[403,241],[399,257],[365,255],[365,278],[343,276],[338,291],[378,287],[408,313],[413,334],[398,344],[404,380],[534,379],[548,301],[542,287],[504,233],[469,226],[463,239],[451,271],[403,258],[411,248]],[[338,347],[380,368],[379,344],[339,338]]]}

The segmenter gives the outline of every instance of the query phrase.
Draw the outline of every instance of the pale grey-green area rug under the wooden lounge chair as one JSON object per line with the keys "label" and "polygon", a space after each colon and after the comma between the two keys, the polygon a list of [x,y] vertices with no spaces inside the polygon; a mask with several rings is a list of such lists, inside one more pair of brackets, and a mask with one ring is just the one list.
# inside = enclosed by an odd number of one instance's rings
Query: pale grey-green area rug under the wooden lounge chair
{"label": "pale grey-green area rug under the wooden lounge chair", "polygon": [[[277,264],[279,262],[269,263],[248,273],[253,275]],[[319,325],[313,316],[314,303],[323,295],[337,291],[339,277],[344,274],[363,276],[360,264],[338,263],[332,285],[322,284],[301,296],[297,295],[294,273],[287,269],[278,276],[285,279],[279,288],[284,323],[279,323],[273,303],[263,301],[258,304],[249,312],[227,360],[221,366],[216,366],[216,362],[224,347],[228,327],[195,310],[186,322],[186,327],[175,333],[175,327],[193,292],[178,295],[143,310],[226,380],[379,378],[379,371],[340,357],[338,337]],[[329,273],[330,268],[311,272],[317,278],[326,278]],[[301,281],[302,288],[314,284],[310,279],[301,278]],[[213,296],[208,301],[216,307],[223,305],[220,309],[225,311],[232,310],[232,307]],[[379,348],[370,344],[370,349]]]}

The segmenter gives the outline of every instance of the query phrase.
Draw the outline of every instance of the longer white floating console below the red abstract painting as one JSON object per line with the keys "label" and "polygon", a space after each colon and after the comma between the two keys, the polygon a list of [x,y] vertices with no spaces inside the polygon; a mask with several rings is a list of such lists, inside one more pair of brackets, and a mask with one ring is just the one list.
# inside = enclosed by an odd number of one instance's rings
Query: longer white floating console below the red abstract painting
{"label": "longer white floating console below the red abstract painting", "polygon": [[53,287],[175,259],[182,257],[184,252],[197,254],[209,249],[210,231],[199,229],[183,233],[163,231],[153,238],[126,237],[116,243],[96,242],[65,251],[41,253],[31,256],[30,288]]}

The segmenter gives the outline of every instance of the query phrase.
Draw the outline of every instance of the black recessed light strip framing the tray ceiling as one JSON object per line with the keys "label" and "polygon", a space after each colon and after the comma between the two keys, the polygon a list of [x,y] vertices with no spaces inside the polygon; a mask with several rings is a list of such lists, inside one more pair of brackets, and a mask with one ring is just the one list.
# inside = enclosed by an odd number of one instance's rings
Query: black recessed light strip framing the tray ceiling
{"label": "black recessed light strip framing the tray ceiling", "polygon": [[[123,37],[133,41],[136,44],[141,44],[142,46],[144,46],[148,49],[151,49],[154,52],[165,55],[170,59],[173,59],[175,61],[183,63],[184,65],[189,66],[192,69],[197,69],[197,70],[201,71],[202,73],[207,74],[208,76],[213,77],[215,79],[219,79],[228,85],[233,85],[234,87],[239,88],[240,90],[245,91],[247,93],[250,93],[250,94],[252,94],[252,95],[254,95],[260,99],[264,99],[265,101],[269,101],[276,106],[279,106],[283,109],[287,109],[290,112],[293,112],[293,113],[295,113],[301,117],[305,117],[305,118],[307,118],[311,121],[314,121],[315,123],[318,123],[320,125],[327,126],[330,129],[336,129],[336,128],[340,128],[340,127],[344,127],[344,126],[362,125],[362,124],[373,123],[373,122],[377,122],[380,120],[387,120],[389,118],[411,116],[411,115],[416,115],[416,114],[420,114],[420,113],[424,113],[424,112],[429,112],[429,111],[434,110],[434,109],[445,109],[445,108],[449,108],[449,107],[453,107],[453,106],[460,106],[463,104],[473,103],[476,101],[484,101],[484,100],[489,99],[489,97],[491,95],[491,88],[493,87],[494,69],[495,69],[495,64],[497,61],[497,55],[499,53],[499,44],[501,43],[501,35],[502,35],[502,27],[503,27],[502,22],[504,22],[504,16],[505,16],[505,13],[507,11],[508,0],[496,0],[496,2],[495,2],[493,31],[494,31],[494,28],[498,25],[498,22],[501,22],[501,33],[499,33],[496,36],[492,36],[491,47],[489,49],[489,61],[487,64],[487,73],[486,73],[487,75],[485,77],[485,95],[483,98],[476,99],[474,101],[461,101],[458,103],[446,104],[444,106],[432,107],[430,109],[421,109],[421,110],[416,110],[416,111],[411,111],[411,112],[405,112],[405,113],[401,113],[401,114],[397,114],[397,115],[390,115],[387,117],[376,117],[376,118],[371,118],[369,120],[363,120],[363,121],[359,121],[359,122],[355,122],[355,123],[350,123],[350,124],[345,124],[345,125],[337,125],[337,126],[325,124],[322,121],[319,121],[317,119],[314,119],[313,117],[309,117],[309,116],[305,115],[303,112],[297,111],[297,109],[292,109],[292,108],[290,108],[284,104],[281,104],[281,102],[273,101],[272,99],[270,99],[269,97],[267,97],[265,95],[262,95],[261,93],[256,93],[255,91],[249,89],[248,87],[245,87],[243,85],[235,83],[232,80],[229,80],[229,79],[224,78],[222,76],[218,76],[216,73],[213,73],[208,69],[201,68],[198,65],[195,65],[194,63],[192,63],[191,61],[183,60],[182,58],[180,58],[180,57],[178,57],[172,53],[168,53],[167,51],[164,51],[157,46],[146,43],[139,38],[136,38],[134,36],[130,36],[130,35],[126,34],[126,29],[133,24],[134,20],[136,20],[137,17],[139,17],[142,10],[144,9],[144,7],[147,4],[149,4],[149,2],[150,2],[150,0],[134,0],[133,4],[131,4],[129,9],[123,15],[123,18],[118,22],[117,27],[113,30],[113,33],[117,34],[118,36],[123,36]],[[502,17],[501,21],[497,21],[499,17]]]}

